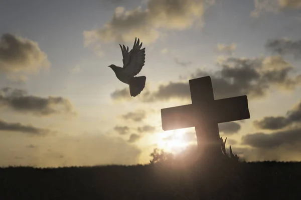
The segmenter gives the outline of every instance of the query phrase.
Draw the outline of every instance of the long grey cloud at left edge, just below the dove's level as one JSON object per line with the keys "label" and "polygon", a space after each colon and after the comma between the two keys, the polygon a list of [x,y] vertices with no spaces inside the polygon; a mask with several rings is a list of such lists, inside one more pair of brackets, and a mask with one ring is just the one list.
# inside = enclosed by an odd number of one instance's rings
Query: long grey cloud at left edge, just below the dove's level
{"label": "long grey cloud at left edge, just below the dove's level", "polygon": [[0,89],[1,107],[39,116],[60,113],[75,114],[71,102],[66,98],[33,96],[28,95],[25,90],[10,87]]}

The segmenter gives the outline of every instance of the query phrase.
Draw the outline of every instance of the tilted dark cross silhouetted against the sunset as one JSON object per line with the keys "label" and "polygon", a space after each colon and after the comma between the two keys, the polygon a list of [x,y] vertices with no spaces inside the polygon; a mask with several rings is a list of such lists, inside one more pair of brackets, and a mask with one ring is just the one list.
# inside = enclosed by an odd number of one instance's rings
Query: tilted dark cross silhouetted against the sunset
{"label": "tilted dark cross silhouetted against the sunset", "polygon": [[246,95],[214,100],[210,76],[189,80],[192,104],[161,109],[163,130],[195,127],[198,148],[221,154],[218,123],[250,118]]}

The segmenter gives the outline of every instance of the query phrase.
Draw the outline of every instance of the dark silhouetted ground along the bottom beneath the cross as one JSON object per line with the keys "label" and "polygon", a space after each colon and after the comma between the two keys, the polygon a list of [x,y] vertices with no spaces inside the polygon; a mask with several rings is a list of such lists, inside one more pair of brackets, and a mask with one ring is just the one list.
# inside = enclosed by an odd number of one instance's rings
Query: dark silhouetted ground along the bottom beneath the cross
{"label": "dark silhouetted ground along the bottom beneath the cross", "polygon": [[[201,199],[190,172],[158,164],[6,167],[0,168],[0,199]],[[240,162],[235,174],[238,179],[218,177],[219,199],[301,199],[301,162]]]}

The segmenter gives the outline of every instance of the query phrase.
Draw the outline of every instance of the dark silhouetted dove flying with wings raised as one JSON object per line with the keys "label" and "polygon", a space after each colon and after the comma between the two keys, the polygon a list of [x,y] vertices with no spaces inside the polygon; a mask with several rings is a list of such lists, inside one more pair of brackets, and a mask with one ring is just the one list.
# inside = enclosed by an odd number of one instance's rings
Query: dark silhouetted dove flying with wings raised
{"label": "dark silhouetted dove flying with wings raised", "polygon": [[145,76],[136,76],[144,66],[145,62],[145,48],[141,48],[139,44],[139,38],[135,38],[133,48],[128,52],[128,46],[125,48],[124,44],[122,46],[119,44],[123,56],[123,67],[116,66],[115,64],[109,65],[111,69],[115,72],[117,78],[129,85],[129,92],[131,96],[138,95],[145,86]]}

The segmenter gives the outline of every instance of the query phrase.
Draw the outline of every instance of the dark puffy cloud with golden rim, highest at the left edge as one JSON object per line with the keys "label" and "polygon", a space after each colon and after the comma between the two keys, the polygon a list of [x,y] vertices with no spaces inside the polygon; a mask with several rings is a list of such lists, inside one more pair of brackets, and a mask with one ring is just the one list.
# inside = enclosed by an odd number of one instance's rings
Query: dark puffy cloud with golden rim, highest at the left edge
{"label": "dark puffy cloud with golden rim, highest at the left edge", "polygon": [[30,39],[5,33],[0,40],[0,72],[36,72],[49,67],[47,54]]}

